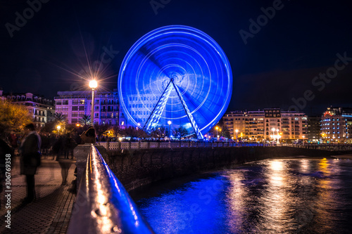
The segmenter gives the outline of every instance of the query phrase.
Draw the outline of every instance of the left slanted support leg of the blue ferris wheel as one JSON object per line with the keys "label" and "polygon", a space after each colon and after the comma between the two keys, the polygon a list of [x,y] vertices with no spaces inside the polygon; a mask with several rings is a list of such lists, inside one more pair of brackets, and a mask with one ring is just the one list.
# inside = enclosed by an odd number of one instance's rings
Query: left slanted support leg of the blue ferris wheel
{"label": "left slanted support leg of the blue ferris wheel", "polygon": [[158,124],[161,118],[161,114],[165,109],[166,102],[168,101],[168,98],[172,91],[171,82],[172,81],[170,80],[165,90],[163,91],[161,98],[158,100],[158,103],[156,103],[155,108],[151,112],[151,115],[149,115],[148,119],[146,120],[146,124],[144,124],[144,127],[143,127],[143,129],[146,129],[146,131],[150,131],[153,125]]}

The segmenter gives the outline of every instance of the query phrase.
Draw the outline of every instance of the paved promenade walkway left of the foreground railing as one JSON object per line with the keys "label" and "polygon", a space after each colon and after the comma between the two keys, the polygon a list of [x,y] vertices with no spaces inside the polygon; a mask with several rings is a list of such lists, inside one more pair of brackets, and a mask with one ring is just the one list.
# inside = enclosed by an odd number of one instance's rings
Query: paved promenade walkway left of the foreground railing
{"label": "paved promenade walkway left of the foreground railing", "polygon": [[1,193],[0,233],[66,233],[70,221],[75,194],[72,181],[75,179],[75,161],[70,160],[68,183],[61,186],[61,167],[58,162],[42,160],[35,175],[37,199],[30,204],[21,204],[26,196],[25,176],[20,175],[19,159],[15,158],[11,170],[11,228],[5,223],[5,193]]}

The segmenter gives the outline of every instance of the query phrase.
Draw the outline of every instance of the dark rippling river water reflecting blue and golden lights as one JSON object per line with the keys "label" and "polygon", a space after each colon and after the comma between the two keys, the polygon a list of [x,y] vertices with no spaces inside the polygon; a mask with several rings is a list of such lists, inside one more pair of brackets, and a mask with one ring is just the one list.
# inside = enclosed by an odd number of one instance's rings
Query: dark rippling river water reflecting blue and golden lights
{"label": "dark rippling river water reflecting blue and golden lights", "polygon": [[352,160],[251,162],[132,197],[156,233],[352,233]]}

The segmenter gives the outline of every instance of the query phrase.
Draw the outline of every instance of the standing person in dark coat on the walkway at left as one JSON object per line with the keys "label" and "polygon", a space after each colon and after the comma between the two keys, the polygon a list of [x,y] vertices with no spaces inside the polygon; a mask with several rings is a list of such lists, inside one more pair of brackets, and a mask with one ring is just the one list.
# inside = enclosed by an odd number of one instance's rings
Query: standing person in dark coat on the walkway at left
{"label": "standing person in dark coat on the walkway at left", "polygon": [[40,146],[42,140],[35,131],[34,124],[25,126],[25,138],[20,145],[20,174],[25,175],[27,182],[27,197],[23,202],[32,202],[35,198],[34,175],[40,165]]}

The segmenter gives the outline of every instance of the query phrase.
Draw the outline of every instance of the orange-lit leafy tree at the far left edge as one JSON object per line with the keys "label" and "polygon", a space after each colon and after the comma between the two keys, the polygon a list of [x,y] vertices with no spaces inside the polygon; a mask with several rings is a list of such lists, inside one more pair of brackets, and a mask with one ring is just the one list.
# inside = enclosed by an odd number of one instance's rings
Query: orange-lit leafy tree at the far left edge
{"label": "orange-lit leafy tree at the far left edge", "polygon": [[32,122],[30,112],[23,105],[0,100],[0,133],[23,131],[23,127]]}

